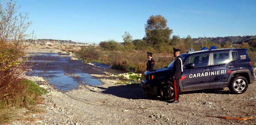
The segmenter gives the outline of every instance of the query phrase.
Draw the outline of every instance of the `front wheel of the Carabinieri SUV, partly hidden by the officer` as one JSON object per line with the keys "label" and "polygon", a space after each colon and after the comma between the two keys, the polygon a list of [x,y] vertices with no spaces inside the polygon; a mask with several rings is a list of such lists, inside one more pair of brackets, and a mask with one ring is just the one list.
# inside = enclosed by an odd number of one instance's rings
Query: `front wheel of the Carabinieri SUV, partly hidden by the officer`
{"label": "front wheel of the Carabinieri SUV, partly hidden by the officer", "polygon": [[160,97],[164,100],[173,100],[174,90],[172,83],[163,83],[160,87]]}

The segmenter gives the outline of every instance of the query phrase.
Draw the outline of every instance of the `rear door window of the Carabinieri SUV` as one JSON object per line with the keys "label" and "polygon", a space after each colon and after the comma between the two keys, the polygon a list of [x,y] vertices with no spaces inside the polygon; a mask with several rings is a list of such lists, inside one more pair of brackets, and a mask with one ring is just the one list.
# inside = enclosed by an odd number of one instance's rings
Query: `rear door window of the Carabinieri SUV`
{"label": "rear door window of the Carabinieri SUV", "polygon": [[229,62],[229,52],[213,53],[213,64],[222,64]]}

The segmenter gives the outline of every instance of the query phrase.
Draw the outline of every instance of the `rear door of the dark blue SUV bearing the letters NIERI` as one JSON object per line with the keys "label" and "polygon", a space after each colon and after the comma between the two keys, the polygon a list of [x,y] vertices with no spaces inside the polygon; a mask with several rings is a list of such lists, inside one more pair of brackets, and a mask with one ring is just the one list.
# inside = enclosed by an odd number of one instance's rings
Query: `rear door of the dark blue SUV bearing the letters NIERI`
{"label": "rear door of the dark blue SUV bearing the letters NIERI", "polygon": [[228,86],[228,77],[232,71],[236,70],[236,65],[233,60],[237,58],[237,52],[224,51],[212,53],[210,88]]}

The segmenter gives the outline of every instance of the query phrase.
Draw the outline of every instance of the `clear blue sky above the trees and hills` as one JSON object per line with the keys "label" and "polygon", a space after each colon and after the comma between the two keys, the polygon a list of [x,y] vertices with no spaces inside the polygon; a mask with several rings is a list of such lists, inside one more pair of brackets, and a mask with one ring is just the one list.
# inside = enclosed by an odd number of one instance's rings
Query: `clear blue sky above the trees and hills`
{"label": "clear blue sky above the trees and hills", "polygon": [[256,1],[19,0],[38,39],[122,42],[128,31],[142,39],[151,15],[161,14],[172,35],[185,37],[256,35]]}

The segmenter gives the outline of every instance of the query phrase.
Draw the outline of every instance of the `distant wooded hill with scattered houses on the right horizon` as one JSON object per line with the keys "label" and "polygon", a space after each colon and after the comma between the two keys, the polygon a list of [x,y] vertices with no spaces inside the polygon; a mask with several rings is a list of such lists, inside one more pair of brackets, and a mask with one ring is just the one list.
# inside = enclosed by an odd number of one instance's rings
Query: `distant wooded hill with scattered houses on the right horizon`
{"label": "distant wooded hill with scattered houses on the right horizon", "polygon": [[233,44],[241,44],[242,42],[249,42],[250,40],[256,39],[256,36],[225,36],[225,37],[193,38],[195,43],[199,43],[204,39],[209,39],[212,42],[215,42],[217,44],[224,44],[227,41],[232,42]]}

